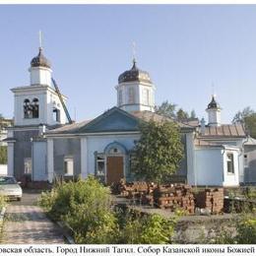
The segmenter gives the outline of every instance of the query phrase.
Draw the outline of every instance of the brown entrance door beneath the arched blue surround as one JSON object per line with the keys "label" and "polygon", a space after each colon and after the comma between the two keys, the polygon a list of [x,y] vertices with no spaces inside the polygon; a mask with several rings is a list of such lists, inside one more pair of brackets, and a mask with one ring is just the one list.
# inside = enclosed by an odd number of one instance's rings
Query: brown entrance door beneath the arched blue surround
{"label": "brown entrance door beneath the arched blue surround", "polygon": [[107,157],[106,160],[106,184],[119,182],[124,177],[123,157]]}

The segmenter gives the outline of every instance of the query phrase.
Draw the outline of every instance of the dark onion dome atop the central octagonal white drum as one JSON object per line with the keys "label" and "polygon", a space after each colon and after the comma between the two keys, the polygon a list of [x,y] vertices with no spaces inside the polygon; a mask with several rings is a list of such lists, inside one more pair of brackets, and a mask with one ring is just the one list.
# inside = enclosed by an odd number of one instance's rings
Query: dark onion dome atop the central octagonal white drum
{"label": "dark onion dome atop the central octagonal white drum", "polygon": [[126,82],[146,82],[152,84],[150,74],[137,68],[136,60],[133,60],[133,66],[118,77],[118,84]]}

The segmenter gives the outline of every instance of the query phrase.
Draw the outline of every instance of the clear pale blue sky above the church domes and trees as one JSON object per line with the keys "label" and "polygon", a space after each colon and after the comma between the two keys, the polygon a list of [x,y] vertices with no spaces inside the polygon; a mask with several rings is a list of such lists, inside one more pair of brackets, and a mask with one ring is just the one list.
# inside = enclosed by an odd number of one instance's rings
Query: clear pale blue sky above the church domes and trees
{"label": "clear pale blue sky above the church domes and trees", "polygon": [[30,83],[28,68],[44,33],[44,54],[77,120],[116,104],[115,85],[132,62],[168,99],[201,118],[213,93],[223,122],[256,109],[256,5],[0,5],[0,113],[13,115],[11,88]]}

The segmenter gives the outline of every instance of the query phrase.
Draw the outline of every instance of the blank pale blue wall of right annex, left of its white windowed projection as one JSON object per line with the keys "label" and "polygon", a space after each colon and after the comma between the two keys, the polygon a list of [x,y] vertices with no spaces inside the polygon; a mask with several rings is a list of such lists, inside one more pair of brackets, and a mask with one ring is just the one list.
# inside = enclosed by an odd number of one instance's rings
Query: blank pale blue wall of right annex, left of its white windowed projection
{"label": "blank pale blue wall of right annex, left of its white windowed projection", "polygon": [[222,148],[197,148],[195,150],[195,171],[196,185],[223,186]]}

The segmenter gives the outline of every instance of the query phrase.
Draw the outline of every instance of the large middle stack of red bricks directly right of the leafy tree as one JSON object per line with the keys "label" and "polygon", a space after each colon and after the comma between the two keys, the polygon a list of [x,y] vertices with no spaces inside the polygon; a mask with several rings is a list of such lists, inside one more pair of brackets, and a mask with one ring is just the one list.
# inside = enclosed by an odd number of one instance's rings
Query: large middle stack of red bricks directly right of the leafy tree
{"label": "large middle stack of red bricks directly right of the leafy tree", "polygon": [[160,186],[154,190],[154,202],[161,209],[182,208],[189,214],[195,212],[194,195],[192,188],[185,184],[170,184]]}

